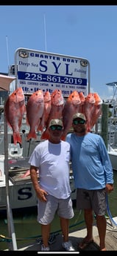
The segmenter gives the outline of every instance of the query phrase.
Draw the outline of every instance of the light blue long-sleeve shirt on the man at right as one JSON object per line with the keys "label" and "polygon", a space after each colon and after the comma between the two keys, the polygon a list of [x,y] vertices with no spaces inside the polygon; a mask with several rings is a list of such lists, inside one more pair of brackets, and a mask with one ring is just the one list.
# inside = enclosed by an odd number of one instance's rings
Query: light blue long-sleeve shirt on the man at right
{"label": "light blue long-sleeve shirt on the man at right", "polygon": [[96,190],[113,184],[113,168],[101,136],[90,132],[82,137],[68,134],[66,141],[71,145],[75,188]]}

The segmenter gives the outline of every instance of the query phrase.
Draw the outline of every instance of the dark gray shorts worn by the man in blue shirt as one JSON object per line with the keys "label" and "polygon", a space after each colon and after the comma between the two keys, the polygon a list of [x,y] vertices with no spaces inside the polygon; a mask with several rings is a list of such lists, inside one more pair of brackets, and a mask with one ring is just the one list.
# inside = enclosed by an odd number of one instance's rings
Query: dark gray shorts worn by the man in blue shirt
{"label": "dark gray shorts worn by the man in blue shirt", "polygon": [[77,210],[93,209],[95,214],[104,215],[107,211],[105,188],[87,190],[77,188]]}

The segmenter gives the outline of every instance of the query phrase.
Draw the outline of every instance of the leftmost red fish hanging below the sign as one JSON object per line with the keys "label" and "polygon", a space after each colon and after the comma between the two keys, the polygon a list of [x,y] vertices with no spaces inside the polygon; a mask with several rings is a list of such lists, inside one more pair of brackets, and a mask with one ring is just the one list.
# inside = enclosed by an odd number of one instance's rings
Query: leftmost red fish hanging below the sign
{"label": "leftmost red fish hanging below the sign", "polygon": [[6,115],[7,124],[13,129],[13,142],[21,143],[20,128],[22,118],[26,112],[24,92],[22,88],[18,88],[8,96],[4,105],[4,113]]}

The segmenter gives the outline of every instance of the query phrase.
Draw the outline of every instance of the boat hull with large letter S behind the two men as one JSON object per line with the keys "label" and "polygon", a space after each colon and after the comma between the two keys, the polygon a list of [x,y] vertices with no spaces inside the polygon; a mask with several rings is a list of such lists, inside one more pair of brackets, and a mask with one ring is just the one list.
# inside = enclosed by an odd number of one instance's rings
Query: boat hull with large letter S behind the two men
{"label": "boat hull with large letter S behind the two men", "polygon": [[[37,196],[32,185],[29,171],[29,157],[10,159],[9,161],[9,186],[6,190],[6,181],[4,174],[4,156],[0,158],[0,209],[7,206],[6,194],[9,193],[10,206],[12,209],[37,206]],[[76,189],[74,188],[74,177],[70,173],[71,199],[76,200]]]}

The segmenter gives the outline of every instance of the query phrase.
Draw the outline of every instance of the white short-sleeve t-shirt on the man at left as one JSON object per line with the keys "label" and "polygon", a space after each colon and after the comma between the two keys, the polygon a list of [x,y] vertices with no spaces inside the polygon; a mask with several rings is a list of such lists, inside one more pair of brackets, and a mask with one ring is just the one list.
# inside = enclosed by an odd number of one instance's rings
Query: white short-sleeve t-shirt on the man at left
{"label": "white short-sleeve t-shirt on the man at left", "polygon": [[53,144],[40,142],[29,158],[29,164],[39,169],[40,187],[54,197],[65,199],[71,194],[69,182],[70,144],[63,140]]}

